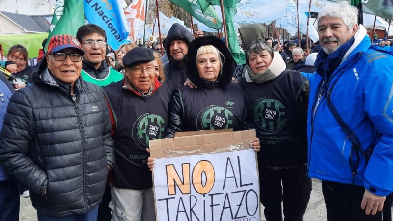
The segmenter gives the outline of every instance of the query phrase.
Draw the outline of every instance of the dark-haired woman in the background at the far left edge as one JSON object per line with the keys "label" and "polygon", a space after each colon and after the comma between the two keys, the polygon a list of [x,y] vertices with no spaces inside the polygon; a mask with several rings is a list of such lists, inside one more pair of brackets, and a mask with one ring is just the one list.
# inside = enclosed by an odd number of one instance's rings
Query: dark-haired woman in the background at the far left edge
{"label": "dark-haired woman in the background at the far left edge", "polygon": [[15,89],[25,87],[31,83],[33,66],[28,65],[28,51],[22,45],[12,46],[7,53],[8,61],[1,61],[1,67],[6,68],[12,73],[12,79],[20,81],[11,82]]}

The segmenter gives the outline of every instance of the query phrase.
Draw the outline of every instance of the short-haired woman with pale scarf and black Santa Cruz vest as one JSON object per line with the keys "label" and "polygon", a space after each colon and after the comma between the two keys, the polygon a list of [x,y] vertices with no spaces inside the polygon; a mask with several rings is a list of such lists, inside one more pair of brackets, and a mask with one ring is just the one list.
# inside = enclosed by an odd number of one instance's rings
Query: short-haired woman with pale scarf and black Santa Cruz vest
{"label": "short-haired woman with pale scarf and black Santa Cruz vest", "polygon": [[239,83],[244,91],[247,121],[262,140],[258,152],[260,200],[267,221],[302,221],[312,183],[306,176],[308,81],[262,39],[246,52]]}

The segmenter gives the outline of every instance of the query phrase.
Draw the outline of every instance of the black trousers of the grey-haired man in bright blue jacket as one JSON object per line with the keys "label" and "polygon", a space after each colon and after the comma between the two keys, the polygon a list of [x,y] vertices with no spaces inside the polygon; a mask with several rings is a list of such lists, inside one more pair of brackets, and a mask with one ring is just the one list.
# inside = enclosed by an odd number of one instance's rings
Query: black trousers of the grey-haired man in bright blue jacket
{"label": "black trousers of the grey-haired man in bright blue jacket", "polygon": [[360,204],[365,188],[357,185],[322,181],[328,221],[382,221],[382,212],[365,214]]}

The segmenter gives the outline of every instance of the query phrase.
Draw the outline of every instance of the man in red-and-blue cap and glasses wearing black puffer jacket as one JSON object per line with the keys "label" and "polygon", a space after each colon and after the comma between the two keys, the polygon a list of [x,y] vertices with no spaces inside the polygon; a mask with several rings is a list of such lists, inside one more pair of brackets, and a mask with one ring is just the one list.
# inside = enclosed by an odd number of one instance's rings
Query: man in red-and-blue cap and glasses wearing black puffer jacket
{"label": "man in red-and-blue cap and glasses wearing black puffer jacket", "polygon": [[100,87],[80,77],[83,55],[75,37],[53,36],[4,117],[0,162],[30,190],[38,221],[97,220],[114,166],[108,106]]}

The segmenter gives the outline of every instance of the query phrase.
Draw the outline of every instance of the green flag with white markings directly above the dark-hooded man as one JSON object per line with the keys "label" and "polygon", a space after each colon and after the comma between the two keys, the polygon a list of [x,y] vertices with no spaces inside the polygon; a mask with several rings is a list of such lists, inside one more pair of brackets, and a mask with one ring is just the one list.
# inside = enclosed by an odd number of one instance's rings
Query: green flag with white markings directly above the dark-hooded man
{"label": "green flag with white markings directly above the dark-hooded man", "polygon": [[[169,0],[173,4],[186,10],[190,15],[196,18],[201,23],[214,29],[220,29],[223,23],[217,15],[213,6],[206,0]],[[202,10],[202,8],[204,10]],[[204,12],[203,12],[204,11]]]}

